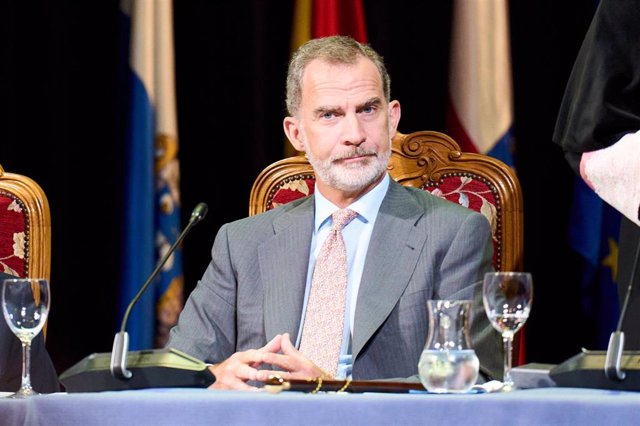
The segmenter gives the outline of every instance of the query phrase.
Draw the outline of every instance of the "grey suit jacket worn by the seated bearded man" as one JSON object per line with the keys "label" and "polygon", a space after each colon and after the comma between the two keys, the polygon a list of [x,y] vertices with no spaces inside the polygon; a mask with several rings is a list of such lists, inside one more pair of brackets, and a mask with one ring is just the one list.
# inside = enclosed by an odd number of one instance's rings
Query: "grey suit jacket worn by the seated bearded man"
{"label": "grey suit jacket worn by the seated bearded man", "polygon": [[[167,346],[208,362],[256,349],[276,334],[295,342],[314,223],[313,196],[222,226],[212,260]],[[374,225],[357,296],[353,378],[415,376],[429,299],[472,299],[472,346],[501,377],[502,343],[482,307],[492,270],[488,221],[393,180]]]}

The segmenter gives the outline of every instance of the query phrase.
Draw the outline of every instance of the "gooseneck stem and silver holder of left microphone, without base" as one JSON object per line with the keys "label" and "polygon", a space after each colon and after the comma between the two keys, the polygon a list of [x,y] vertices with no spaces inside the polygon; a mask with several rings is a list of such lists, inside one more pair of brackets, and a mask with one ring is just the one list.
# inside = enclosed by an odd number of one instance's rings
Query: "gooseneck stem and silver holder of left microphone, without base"
{"label": "gooseneck stem and silver holder of left microphone, without base", "polygon": [[147,281],[138,291],[138,294],[135,295],[131,303],[127,306],[127,310],[124,313],[124,317],[122,318],[122,324],[120,326],[120,331],[116,333],[115,338],[113,339],[113,349],[111,351],[111,374],[115,378],[119,379],[130,379],[133,374],[131,371],[127,370],[127,351],[129,350],[129,333],[127,333],[127,321],[129,320],[129,315],[131,314],[131,310],[135,306],[135,304],[140,300],[140,297],[147,290],[149,285],[153,282],[154,278],[160,272],[160,269],[167,263],[169,257],[173,254],[173,252],[178,248],[178,245],[182,242],[184,237],[191,231],[196,224],[198,224],[204,217],[207,215],[207,211],[209,207],[205,203],[199,203],[191,213],[191,217],[189,218],[189,223],[184,228],[184,230],[178,235],[176,241],[171,245],[169,250],[162,256],[162,258],[158,261],[156,265],[156,269],[153,270]]}

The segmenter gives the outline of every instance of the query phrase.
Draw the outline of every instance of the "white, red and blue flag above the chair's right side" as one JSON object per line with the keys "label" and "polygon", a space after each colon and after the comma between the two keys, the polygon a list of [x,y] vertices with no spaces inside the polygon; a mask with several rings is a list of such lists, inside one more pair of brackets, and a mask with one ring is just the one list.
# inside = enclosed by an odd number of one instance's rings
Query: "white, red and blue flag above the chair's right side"
{"label": "white, red and blue flag above the chair's right side", "polygon": [[507,0],[455,0],[447,132],[463,151],[513,166]]}

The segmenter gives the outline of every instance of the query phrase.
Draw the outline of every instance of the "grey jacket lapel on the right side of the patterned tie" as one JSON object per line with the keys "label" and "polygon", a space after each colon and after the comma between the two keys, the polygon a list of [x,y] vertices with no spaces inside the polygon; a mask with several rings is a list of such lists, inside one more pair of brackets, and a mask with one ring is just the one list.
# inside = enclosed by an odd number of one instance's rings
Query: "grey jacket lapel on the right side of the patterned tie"
{"label": "grey jacket lapel on the right side of the patterned tie", "polygon": [[415,224],[423,210],[392,181],[380,206],[360,281],[354,318],[355,360],[391,313],[413,274],[426,233]]}

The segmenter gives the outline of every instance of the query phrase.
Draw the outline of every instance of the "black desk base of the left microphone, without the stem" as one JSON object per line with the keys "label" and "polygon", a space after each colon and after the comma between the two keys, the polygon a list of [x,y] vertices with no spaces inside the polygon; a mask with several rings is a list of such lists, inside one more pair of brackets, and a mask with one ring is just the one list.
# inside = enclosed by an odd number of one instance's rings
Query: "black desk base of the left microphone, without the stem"
{"label": "black desk base of the left microphone, without the stem", "polygon": [[173,348],[133,351],[127,354],[130,379],[111,374],[111,352],[94,353],[63,372],[59,379],[67,392],[207,387],[215,379],[206,364]]}

